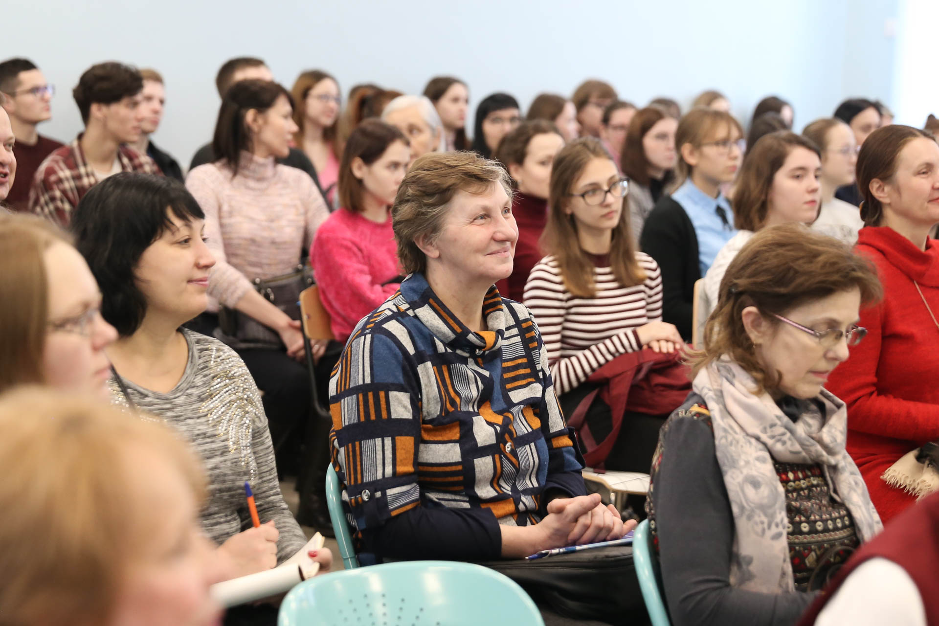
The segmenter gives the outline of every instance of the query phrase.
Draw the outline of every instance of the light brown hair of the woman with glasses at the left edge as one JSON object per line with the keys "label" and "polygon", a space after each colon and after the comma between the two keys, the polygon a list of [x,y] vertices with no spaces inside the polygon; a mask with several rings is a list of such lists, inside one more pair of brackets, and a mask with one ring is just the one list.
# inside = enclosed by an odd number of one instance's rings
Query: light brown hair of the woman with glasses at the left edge
{"label": "light brown hair of the woman with glasses at the left edge", "polygon": [[42,383],[42,351],[49,319],[45,252],[69,236],[31,215],[0,213],[0,392],[23,383]]}

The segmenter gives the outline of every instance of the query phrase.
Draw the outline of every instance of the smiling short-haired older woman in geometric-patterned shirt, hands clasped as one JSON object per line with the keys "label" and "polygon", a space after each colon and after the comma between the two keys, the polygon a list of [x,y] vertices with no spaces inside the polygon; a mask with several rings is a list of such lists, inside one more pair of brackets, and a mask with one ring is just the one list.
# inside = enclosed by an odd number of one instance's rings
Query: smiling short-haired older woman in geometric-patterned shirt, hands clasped
{"label": "smiling short-haired older woman in geometric-patterned shirt, hands clasped", "polygon": [[333,465],[362,552],[473,560],[622,537],[619,514],[585,495],[531,313],[493,286],[518,237],[504,170],[426,155],[392,212],[410,275],[330,381]]}

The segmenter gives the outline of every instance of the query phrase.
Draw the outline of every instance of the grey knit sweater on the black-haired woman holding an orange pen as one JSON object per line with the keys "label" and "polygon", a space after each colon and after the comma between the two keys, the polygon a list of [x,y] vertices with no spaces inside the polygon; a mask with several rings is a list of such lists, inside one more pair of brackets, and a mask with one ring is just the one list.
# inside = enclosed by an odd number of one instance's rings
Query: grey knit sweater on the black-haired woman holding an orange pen
{"label": "grey knit sweater on the black-haired woman holding an orange pen", "polygon": [[[202,527],[208,536],[221,545],[251,527],[244,495],[244,483],[249,481],[261,523],[274,520],[281,533],[277,540],[280,563],[300,550],[306,538],[281,495],[257,386],[244,362],[227,345],[185,328],[182,333],[189,344],[189,362],[175,389],[158,393],[126,378],[124,385],[137,408],[175,427],[202,459],[208,473]],[[114,377],[109,385],[115,404],[127,406]]]}

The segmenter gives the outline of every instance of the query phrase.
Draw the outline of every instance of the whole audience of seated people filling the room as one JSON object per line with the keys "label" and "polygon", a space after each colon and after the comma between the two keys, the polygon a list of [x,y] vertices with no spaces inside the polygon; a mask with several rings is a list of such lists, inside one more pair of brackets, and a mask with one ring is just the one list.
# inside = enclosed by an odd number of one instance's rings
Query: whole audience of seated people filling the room
{"label": "whole audience of seated people filling the room", "polygon": [[[0,488],[9,623],[213,623],[212,583],[332,533],[330,466],[362,564],[498,569],[648,518],[674,624],[939,619],[939,554],[902,541],[939,518],[930,130],[852,98],[800,135],[779,96],[745,128],[716,90],[683,115],[593,78],[467,129],[457,77],[342,78],[226,61],[184,170],[165,70],[86,69],[60,143],[54,86],[0,62],[0,468],[32,479]],[[647,497],[605,503],[597,467]]]}

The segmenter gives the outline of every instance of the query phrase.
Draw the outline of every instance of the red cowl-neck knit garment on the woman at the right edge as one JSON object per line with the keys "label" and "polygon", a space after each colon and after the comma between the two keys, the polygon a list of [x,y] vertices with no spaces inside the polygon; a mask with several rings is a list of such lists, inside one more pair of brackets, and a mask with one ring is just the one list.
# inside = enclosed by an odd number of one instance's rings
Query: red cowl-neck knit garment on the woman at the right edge
{"label": "red cowl-neck knit garment on the woman at the right edge", "polygon": [[848,405],[848,452],[868,484],[884,523],[914,503],[914,496],[881,475],[900,457],[939,439],[939,245],[926,252],[885,226],[862,228],[855,248],[873,261],[884,301],[861,312],[868,329],[827,389]]}

